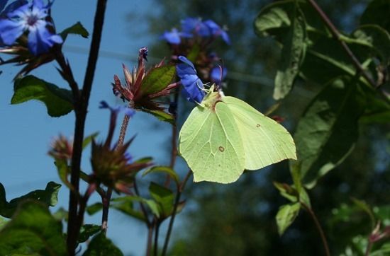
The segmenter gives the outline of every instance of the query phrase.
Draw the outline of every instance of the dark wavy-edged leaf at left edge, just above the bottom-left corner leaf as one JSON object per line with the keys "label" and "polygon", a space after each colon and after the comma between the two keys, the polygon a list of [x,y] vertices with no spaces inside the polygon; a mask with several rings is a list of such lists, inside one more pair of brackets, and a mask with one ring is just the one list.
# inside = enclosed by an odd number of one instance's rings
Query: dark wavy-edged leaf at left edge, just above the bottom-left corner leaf
{"label": "dark wavy-edged leaf at left edge, just above the bottom-left corner leaf", "polygon": [[57,204],[57,196],[60,187],[60,184],[50,181],[48,182],[48,185],[46,185],[45,190],[34,190],[22,197],[17,197],[12,199],[10,202],[7,202],[6,190],[0,183],[0,215],[6,218],[11,218],[18,205],[21,204],[21,202],[26,201],[26,199],[35,199],[43,202],[47,206],[55,206]]}

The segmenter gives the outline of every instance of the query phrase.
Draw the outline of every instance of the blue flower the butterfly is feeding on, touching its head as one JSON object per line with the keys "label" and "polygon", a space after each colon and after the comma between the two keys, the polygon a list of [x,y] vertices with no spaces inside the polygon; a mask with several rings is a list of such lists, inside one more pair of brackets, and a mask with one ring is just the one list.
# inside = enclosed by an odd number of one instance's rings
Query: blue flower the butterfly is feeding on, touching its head
{"label": "blue flower the butterfly is feeding on, touching its head", "polygon": [[201,103],[204,98],[204,85],[196,74],[194,64],[184,56],[179,56],[179,60],[184,62],[176,66],[177,76],[179,76],[184,86],[184,95],[189,101]]}

